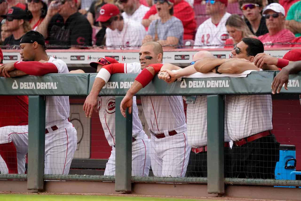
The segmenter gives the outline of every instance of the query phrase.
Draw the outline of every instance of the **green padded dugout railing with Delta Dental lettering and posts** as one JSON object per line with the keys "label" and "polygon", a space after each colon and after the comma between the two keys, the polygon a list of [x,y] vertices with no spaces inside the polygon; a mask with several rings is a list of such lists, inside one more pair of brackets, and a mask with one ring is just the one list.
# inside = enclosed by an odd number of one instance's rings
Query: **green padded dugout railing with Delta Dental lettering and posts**
{"label": "green padded dugout railing with Delta Dental lettering and posts", "polygon": [[[154,80],[137,95],[207,95],[208,177],[131,177],[132,115],[124,118],[119,110],[136,74],[112,75],[100,96],[116,96],[116,176],[101,175],[50,175],[44,174],[45,147],[45,96],[87,96],[96,73],[49,74],[0,78],[0,95],[29,96],[28,174],[0,174],[0,180],[27,180],[28,190],[43,190],[44,180],[111,181],[115,191],[131,192],[132,182],[138,183],[193,183],[207,184],[208,193],[225,193],[225,184],[257,186],[301,186],[301,180],[224,178],[224,98],[229,94],[271,94],[271,83],[277,71],[251,72],[246,78],[184,78],[167,84],[155,76]],[[301,94],[301,73],[290,75],[289,89],[282,94]],[[196,85],[196,82],[204,85]],[[43,83],[43,84],[42,84]],[[44,84],[46,83],[46,84]],[[118,87],[116,87],[118,83]],[[47,89],[45,88],[47,85]],[[123,87],[121,87],[123,86]],[[203,87],[201,87],[203,86]],[[9,181],[8,181],[9,182]],[[0,191],[2,191],[0,185]],[[301,189],[296,189],[301,190]],[[301,191],[300,191],[301,192]]]}

